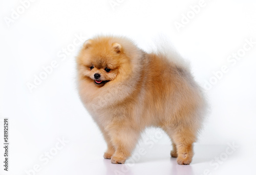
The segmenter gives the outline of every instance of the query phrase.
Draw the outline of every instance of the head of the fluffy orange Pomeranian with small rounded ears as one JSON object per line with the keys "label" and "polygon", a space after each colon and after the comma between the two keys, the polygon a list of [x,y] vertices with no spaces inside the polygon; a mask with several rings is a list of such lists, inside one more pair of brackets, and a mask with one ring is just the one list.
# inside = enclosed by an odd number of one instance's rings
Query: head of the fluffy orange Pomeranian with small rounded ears
{"label": "head of the fluffy orange Pomeranian with small rounded ears", "polygon": [[131,60],[122,45],[112,37],[96,37],[84,42],[77,57],[78,72],[98,87],[124,78],[131,71]]}

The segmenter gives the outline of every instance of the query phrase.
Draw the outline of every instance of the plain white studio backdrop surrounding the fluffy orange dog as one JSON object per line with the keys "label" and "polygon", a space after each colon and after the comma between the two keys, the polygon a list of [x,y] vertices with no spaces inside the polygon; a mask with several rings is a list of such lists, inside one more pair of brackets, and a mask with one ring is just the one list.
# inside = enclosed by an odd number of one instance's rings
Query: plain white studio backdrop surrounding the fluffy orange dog
{"label": "plain white studio backdrop surrounding the fluffy orange dog", "polygon": [[[22,3],[0,2],[0,117],[9,118],[10,123],[9,171],[4,171],[0,163],[0,172],[255,174],[256,44],[236,63],[228,62],[227,58],[241,51],[246,39],[256,41],[256,3],[205,0],[204,7],[195,14],[190,13],[191,6],[200,1],[119,0],[114,8],[110,2],[36,0],[26,4],[28,8],[24,12],[21,9],[10,23],[5,20]],[[187,14],[190,19],[178,30],[175,23],[182,19],[184,22]],[[228,71],[205,90],[211,111],[195,144],[196,155],[191,165],[179,166],[169,158],[172,147],[166,135],[153,148],[143,145],[143,139],[159,132],[156,129],[142,135],[140,143],[148,149],[147,153],[128,170],[122,169],[126,165],[103,160],[106,145],[80,102],[75,70],[75,56],[82,44],[76,37],[81,35],[86,40],[97,34],[127,36],[147,51],[151,41],[163,35],[190,62],[195,79],[202,86],[217,80],[213,72],[227,66]],[[74,40],[78,46],[72,47]],[[63,49],[69,53],[63,55]],[[52,61],[58,66],[29,90],[27,84],[33,84],[35,76],[44,72],[42,67],[50,66]],[[2,144],[3,120],[0,124]],[[55,153],[54,147],[62,138],[69,142]],[[228,143],[239,148],[225,157]],[[47,163],[41,161],[39,157],[46,158],[49,151],[54,154],[52,159]],[[216,156],[224,156],[218,167],[209,164]],[[26,173],[37,165],[38,172]]]}

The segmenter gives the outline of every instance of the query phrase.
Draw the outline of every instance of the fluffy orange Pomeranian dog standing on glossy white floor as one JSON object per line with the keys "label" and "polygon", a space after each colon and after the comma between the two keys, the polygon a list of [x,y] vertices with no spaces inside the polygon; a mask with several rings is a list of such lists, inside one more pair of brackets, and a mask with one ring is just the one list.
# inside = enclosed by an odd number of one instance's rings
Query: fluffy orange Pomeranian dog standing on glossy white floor
{"label": "fluffy orange Pomeranian dog standing on glossy white floor", "polygon": [[105,159],[123,164],[146,127],[170,137],[172,157],[192,161],[205,100],[189,68],[167,52],[146,53],[125,37],[98,36],[77,57],[81,101],[103,133]]}

